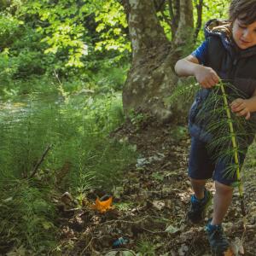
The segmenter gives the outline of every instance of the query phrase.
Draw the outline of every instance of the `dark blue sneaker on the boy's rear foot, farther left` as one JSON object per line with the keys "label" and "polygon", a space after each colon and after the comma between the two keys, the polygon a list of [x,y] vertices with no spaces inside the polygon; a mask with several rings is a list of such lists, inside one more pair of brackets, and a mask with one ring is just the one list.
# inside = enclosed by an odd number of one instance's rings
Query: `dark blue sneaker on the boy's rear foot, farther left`
{"label": "dark blue sneaker on the boy's rear foot, farther left", "polygon": [[207,207],[212,203],[212,193],[205,189],[205,197],[201,200],[198,200],[195,195],[192,195],[190,198],[190,207],[187,218],[193,224],[200,223],[206,215]]}

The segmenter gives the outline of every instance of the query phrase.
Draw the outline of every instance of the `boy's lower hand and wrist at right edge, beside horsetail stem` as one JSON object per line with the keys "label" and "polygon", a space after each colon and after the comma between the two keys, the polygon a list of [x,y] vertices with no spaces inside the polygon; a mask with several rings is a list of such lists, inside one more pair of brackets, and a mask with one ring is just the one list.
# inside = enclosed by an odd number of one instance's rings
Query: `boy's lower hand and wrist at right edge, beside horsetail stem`
{"label": "boy's lower hand and wrist at right edge, beside horsetail stem", "polygon": [[231,111],[238,116],[245,116],[245,119],[251,117],[252,112],[256,112],[256,90],[249,99],[238,98],[230,104]]}

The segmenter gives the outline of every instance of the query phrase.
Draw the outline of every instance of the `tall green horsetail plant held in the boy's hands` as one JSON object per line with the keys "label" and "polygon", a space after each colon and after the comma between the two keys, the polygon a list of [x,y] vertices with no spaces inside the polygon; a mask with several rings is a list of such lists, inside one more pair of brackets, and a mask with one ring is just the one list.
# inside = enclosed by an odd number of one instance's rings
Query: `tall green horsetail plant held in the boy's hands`
{"label": "tall green horsetail plant held in the boy's hands", "polygon": [[[195,91],[196,85],[199,89],[198,84],[186,85],[182,89],[178,88],[170,98],[171,103],[177,100],[177,96],[191,95],[191,90]],[[211,93],[208,94],[207,99],[201,102],[201,109],[196,115],[195,123],[204,125],[204,131],[207,134],[207,149],[212,154],[212,159],[216,163],[219,160],[228,163],[225,175],[236,177],[237,181],[232,183],[232,186],[238,187],[241,214],[245,216],[241,162],[247,151],[248,140],[253,137],[255,123],[253,123],[253,119],[246,120],[244,117],[236,116],[236,113],[230,111],[229,102],[238,97],[245,97],[234,85],[220,81],[208,90],[208,92],[210,91]]]}

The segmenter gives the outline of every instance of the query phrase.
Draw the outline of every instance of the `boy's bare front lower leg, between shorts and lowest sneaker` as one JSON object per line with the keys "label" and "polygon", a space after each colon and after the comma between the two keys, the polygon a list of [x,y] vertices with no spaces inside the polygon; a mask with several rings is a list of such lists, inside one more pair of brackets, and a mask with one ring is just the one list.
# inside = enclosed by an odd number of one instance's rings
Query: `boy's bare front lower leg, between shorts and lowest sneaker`
{"label": "boy's bare front lower leg, between shorts and lowest sneaker", "polygon": [[212,225],[221,224],[232,201],[233,188],[215,181]]}

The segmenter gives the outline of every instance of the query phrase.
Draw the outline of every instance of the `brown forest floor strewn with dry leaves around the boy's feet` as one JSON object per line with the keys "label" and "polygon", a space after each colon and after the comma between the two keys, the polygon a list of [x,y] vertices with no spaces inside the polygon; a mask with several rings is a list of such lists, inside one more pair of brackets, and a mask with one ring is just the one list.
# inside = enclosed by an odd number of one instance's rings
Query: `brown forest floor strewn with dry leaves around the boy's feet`
{"label": "brown forest floor strewn with dry leaves around the boy's feet", "polygon": [[[137,164],[125,170],[121,185],[113,189],[113,209],[91,209],[94,196],[104,195],[91,191],[83,209],[62,212],[61,255],[211,255],[204,226],[212,206],[204,223],[193,225],[186,219],[192,195],[188,133],[183,126],[151,124],[125,124],[112,135],[136,145]],[[212,182],[207,189],[214,194]],[[253,172],[247,172],[245,231],[237,189],[224,219],[234,255],[256,255],[255,191]]]}

